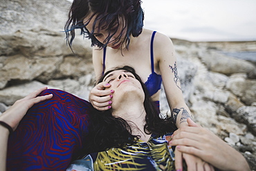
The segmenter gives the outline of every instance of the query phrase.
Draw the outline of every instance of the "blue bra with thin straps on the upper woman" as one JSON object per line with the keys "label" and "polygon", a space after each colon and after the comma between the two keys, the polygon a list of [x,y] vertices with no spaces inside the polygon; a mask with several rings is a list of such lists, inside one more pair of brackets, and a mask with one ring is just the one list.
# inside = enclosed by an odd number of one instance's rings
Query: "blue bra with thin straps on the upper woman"
{"label": "blue bra with thin straps on the upper woman", "polygon": [[[154,36],[156,34],[156,31],[152,33],[151,43],[150,43],[150,56],[151,56],[151,68],[152,73],[149,74],[149,77],[147,78],[147,81],[145,82],[145,86],[147,87],[147,90],[149,92],[149,95],[152,96],[158,90],[161,89],[161,83],[162,83],[162,77],[160,74],[156,74],[154,72],[154,53],[153,53],[153,42],[154,42]],[[102,74],[104,74],[105,70],[105,60],[106,60],[106,48],[103,50],[103,71]]]}

